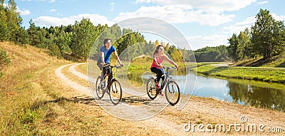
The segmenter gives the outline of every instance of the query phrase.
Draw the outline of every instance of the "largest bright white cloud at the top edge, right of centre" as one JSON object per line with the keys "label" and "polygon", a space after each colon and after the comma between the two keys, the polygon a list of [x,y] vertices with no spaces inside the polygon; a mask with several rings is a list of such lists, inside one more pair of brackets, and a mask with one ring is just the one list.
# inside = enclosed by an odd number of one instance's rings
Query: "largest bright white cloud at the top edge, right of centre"
{"label": "largest bright white cloud at the top edge, right of centre", "polygon": [[234,18],[234,14],[225,14],[224,11],[238,11],[254,2],[256,0],[137,0],[137,4],[153,3],[160,6],[142,6],[135,12],[120,13],[115,21],[138,16],[151,16],[170,23],[197,22],[202,25],[218,26],[232,21]]}

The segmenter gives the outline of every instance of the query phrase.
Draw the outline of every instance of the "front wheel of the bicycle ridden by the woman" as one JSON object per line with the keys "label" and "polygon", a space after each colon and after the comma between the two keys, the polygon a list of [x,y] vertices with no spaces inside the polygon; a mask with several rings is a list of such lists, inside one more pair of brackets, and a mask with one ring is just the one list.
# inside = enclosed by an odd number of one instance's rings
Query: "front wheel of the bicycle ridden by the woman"
{"label": "front wheel of the bicycle ridden by the woman", "polygon": [[176,105],[180,100],[180,88],[174,80],[170,80],[165,88],[165,98],[170,105]]}

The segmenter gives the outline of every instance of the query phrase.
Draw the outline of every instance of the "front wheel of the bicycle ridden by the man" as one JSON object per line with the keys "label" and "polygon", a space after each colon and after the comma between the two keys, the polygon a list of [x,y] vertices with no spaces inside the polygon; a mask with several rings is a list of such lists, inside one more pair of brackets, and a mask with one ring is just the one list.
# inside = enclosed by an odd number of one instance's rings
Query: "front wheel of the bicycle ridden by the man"
{"label": "front wheel of the bicycle ridden by the man", "polygon": [[110,100],[114,105],[118,105],[122,100],[122,86],[118,80],[112,80],[109,95]]}

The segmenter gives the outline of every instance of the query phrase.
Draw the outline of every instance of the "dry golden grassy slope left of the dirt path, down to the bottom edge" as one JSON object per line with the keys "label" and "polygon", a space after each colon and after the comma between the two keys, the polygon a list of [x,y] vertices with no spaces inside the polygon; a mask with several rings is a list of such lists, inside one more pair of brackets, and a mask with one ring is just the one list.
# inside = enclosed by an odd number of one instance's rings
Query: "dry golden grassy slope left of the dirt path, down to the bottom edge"
{"label": "dry golden grassy slope left of the dirt path, down to the bottom edge", "polygon": [[[108,115],[92,97],[64,85],[55,70],[71,62],[32,46],[0,42],[0,48],[11,58],[0,78],[0,135],[166,135]],[[63,73],[74,77],[68,67]]]}

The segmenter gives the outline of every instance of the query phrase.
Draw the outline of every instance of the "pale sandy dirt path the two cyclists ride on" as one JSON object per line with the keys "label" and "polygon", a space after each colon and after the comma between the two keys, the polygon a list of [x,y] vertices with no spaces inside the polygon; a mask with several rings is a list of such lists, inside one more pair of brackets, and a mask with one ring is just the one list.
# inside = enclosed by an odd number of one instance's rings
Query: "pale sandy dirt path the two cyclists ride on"
{"label": "pale sandy dirt path the two cyclists ride on", "polygon": [[[62,83],[78,90],[78,93],[92,97],[92,92],[88,86],[83,86],[68,79],[68,77],[61,72],[63,68],[69,67],[68,70],[71,74],[87,80],[87,75],[76,71],[75,67],[81,64],[82,63],[61,66],[56,69],[56,75],[61,79]],[[127,97],[124,99],[125,101],[115,108],[113,105],[108,105],[108,103],[110,103],[108,97],[103,98],[102,101],[96,100],[96,103],[103,105],[100,107],[110,115],[125,114],[126,117],[138,118],[142,116],[141,113],[145,112],[145,117],[142,117],[142,119],[147,118],[145,120],[122,120],[124,125],[131,126],[128,129],[134,131],[138,129],[151,130],[150,133],[142,133],[141,135],[155,135],[157,133],[160,135],[285,135],[285,113],[197,97],[192,97],[182,110],[176,110],[175,107],[166,106],[166,108],[160,107],[162,110],[157,111],[155,110],[157,106],[165,105],[165,102],[163,102],[165,98],[160,97],[160,99],[150,101],[143,96],[140,98]],[[112,111],[112,109],[115,109],[115,111]],[[160,113],[156,114],[156,112]],[[198,129],[198,125],[200,129]],[[223,125],[224,127],[222,127]],[[229,126],[232,126],[230,130]],[[257,132],[254,130],[250,131],[250,129],[247,131],[247,126],[253,126],[252,128],[256,126]],[[153,130],[155,132],[153,132]],[[261,132],[261,130],[264,130],[264,132]],[[274,130],[275,132],[268,132],[269,130]],[[276,132],[280,130],[282,132]],[[134,134],[138,134],[138,132],[134,132]],[[133,134],[128,133],[127,135]]]}

